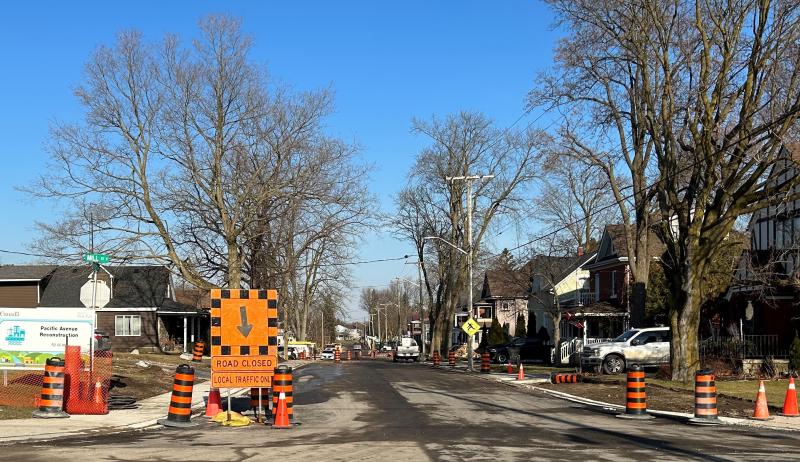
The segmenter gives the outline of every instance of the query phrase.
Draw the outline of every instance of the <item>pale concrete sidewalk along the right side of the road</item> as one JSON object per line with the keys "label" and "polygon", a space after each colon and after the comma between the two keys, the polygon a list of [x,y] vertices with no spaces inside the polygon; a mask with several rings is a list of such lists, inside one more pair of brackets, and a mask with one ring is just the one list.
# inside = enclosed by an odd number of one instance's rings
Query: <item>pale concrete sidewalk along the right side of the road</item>
{"label": "pale concrete sidewalk along the right side of the road", "polygon": [[[431,362],[425,362],[424,364],[433,366],[433,363]],[[467,368],[464,365],[457,365],[455,368],[451,368],[446,364],[443,364],[439,366],[439,369],[467,373]],[[474,374],[475,377],[477,378],[494,381],[498,383],[505,383],[514,387],[535,390],[555,398],[571,401],[573,403],[579,403],[585,406],[600,408],[605,412],[620,413],[625,411],[625,406],[623,405],[605,403],[602,401],[595,401],[588,398],[571,395],[569,393],[549,390],[535,386],[536,383],[549,383],[550,382],[549,374],[525,374],[525,380],[516,380],[516,375],[503,374],[497,372],[493,372],[491,374],[481,374],[478,373],[476,370]],[[568,390],[569,385],[565,385],[564,389]],[[686,414],[683,412],[658,411],[652,409],[648,409],[647,413],[657,417],[665,417],[674,420],[679,420],[682,422],[688,422],[689,419],[694,417],[693,414]],[[766,421],[739,419],[733,417],[720,417],[719,420],[726,425],[737,425],[749,428],[763,428],[769,430],[800,431],[800,417],[782,417],[779,415],[772,415],[771,417],[772,417],[771,420],[766,420]]]}

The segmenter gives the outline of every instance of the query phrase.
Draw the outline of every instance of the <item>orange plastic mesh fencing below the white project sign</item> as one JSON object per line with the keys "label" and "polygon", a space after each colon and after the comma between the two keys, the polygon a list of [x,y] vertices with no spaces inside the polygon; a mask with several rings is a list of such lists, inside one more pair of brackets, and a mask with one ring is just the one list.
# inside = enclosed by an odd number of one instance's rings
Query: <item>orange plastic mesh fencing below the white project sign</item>
{"label": "orange plastic mesh fencing below the white project sign", "polygon": [[[66,353],[69,353],[69,356]],[[96,352],[91,361],[93,365],[91,371],[87,364],[89,362],[88,355],[81,356],[80,350],[77,352],[77,367],[75,367],[75,352],[72,350],[54,356],[65,359],[64,410],[69,414],[105,414],[108,412],[111,352]],[[43,376],[43,369],[0,370],[0,406],[35,409],[41,395]]]}

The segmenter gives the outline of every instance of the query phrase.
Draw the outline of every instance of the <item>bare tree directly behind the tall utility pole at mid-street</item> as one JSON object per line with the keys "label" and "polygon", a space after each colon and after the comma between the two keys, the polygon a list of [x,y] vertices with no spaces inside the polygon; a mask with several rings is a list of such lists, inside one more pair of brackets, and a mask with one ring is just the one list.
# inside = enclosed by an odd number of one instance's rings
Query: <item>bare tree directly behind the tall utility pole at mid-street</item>
{"label": "bare tree directly behind the tall utility pole at mid-street", "polygon": [[[412,187],[409,191],[420,194],[425,202],[424,207],[420,207],[420,202],[406,198],[400,204],[400,208],[406,207],[408,212],[401,215],[400,233],[415,242],[420,256],[427,255],[423,255],[424,241],[420,243],[419,236],[428,232],[461,249],[434,241],[437,285],[432,284],[433,278],[427,269],[423,273],[429,299],[433,298],[432,287],[437,287],[436,300],[430,310],[431,349],[440,350],[449,344],[456,308],[471,303],[464,297],[466,285],[474,284],[467,280],[464,251],[478,255],[495,218],[512,213],[522,204],[522,192],[535,176],[541,136],[533,130],[501,132],[485,116],[467,112],[429,122],[415,120],[414,131],[431,142],[419,154],[410,173]],[[479,174],[494,175],[494,178],[476,182],[473,197],[465,197],[464,182],[449,180],[453,176]],[[467,220],[471,218],[466,213],[468,200],[474,204],[471,243],[466,242],[465,233]],[[430,265],[430,260],[423,260]]]}

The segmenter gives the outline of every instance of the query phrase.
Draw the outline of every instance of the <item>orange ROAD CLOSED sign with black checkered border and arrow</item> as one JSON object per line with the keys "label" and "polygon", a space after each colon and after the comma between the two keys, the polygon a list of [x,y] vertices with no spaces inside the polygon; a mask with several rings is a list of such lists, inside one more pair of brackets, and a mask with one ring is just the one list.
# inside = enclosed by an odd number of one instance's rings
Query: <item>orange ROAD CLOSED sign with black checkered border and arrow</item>
{"label": "orange ROAD CLOSED sign with black checkered border and arrow", "polygon": [[278,292],[211,290],[211,386],[267,388],[278,364]]}

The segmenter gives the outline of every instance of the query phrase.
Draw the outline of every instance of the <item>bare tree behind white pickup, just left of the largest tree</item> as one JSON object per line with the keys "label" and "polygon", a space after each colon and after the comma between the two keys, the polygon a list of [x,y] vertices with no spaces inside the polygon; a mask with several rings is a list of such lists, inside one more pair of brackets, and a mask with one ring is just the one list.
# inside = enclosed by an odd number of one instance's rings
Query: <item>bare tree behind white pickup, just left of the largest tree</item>
{"label": "bare tree behind white pickup, just left of the largest tree", "polygon": [[643,67],[629,42],[649,31],[630,23],[644,2],[548,0],[569,35],[559,44],[555,67],[529,95],[531,105],[562,109],[559,150],[601,171],[619,206],[634,278],[630,315],[642,325],[650,269],[653,217],[653,146],[642,123]]}

